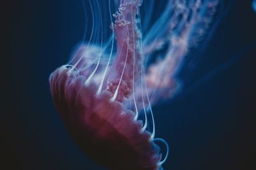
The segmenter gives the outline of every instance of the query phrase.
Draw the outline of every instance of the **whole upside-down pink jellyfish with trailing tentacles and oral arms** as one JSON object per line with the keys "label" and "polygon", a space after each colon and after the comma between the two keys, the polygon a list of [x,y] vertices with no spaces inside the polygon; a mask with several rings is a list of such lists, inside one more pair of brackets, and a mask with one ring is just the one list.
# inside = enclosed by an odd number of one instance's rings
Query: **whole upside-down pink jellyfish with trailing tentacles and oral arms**
{"label": "whole upside-down pink jellyfish with trailing tentacles and oral arms", "polygon": [[[156,19],[157,3],[161,15]],[[163,169],[169,146],[156,138],[152,106],[182,89],[175,75],[189,49],[211,33],[220,4],[83,2],[91,11],[86,14],[92,18],[87,25],[91,34],[70,61],[51,74],[49,83],[56,109],[84,153],[108,169]]]}

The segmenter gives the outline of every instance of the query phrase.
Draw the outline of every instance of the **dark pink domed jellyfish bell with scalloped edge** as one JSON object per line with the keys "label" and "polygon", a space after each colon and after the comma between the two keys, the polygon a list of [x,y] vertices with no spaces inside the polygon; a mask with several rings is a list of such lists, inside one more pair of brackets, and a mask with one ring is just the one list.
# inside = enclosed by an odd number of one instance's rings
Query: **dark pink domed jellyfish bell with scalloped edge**
{"label": "dark pink domed jellyfish bell with scalloped edge", "polygon": [[85,86],[83,76],[68,74],[61,67],[51,76],[54,103],[68,132],[94,160],[109,169],[158,169],[159,148],[150,140],[150,133],[141,132],[141,122],[125,110],[122,103],[111,101],[113,94]]}

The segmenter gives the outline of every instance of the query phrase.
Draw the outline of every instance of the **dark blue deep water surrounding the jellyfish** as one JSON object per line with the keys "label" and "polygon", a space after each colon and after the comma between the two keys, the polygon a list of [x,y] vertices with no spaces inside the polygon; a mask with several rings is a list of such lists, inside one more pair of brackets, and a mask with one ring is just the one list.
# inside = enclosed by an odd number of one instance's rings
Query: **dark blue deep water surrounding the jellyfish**
{"label": "dark blue deep water surrounding the jellyfish", "polygon": [[[49,91],[83,36],[80,1],[0,6],[0,169],[104,169],[68,136]],[[255,31],[252,1],[234,1],[195,66],[181,69],[184,90],[154,107],[157,137],[170,144],[164,169],[256,169]]]}

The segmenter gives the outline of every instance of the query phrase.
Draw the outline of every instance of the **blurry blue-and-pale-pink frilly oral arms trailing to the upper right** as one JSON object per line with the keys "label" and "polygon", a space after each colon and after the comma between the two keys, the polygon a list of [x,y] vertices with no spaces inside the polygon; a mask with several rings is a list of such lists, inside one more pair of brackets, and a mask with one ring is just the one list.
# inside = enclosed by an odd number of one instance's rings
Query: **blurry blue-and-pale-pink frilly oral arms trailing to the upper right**
{"label": "blurry blue-and-pale-pink frilly oral arms trailing to the upper right", "polygon": [[[219,0],[170,0],[166,9],[148,34],[143,38],[143,55],[148,69],[145,71],[149,103],[170,98],[182,87],[175,74],[182,66],[182,60],[188,55],[189,48],[198,44],[207,36],[207,31],[216,20]],[[160,52],[150,55],[154,52]],[[164,56],[164,57],[163,57]],[[156,57],[155,62],[150,62]],[[145,89],[136,87],[136,93],[145,94]],[[131,100],[131,98],[129,99]],[[138,110],[143,110],[142,99],[138,101]],[[127,103],[133,107],[132,102]]]}

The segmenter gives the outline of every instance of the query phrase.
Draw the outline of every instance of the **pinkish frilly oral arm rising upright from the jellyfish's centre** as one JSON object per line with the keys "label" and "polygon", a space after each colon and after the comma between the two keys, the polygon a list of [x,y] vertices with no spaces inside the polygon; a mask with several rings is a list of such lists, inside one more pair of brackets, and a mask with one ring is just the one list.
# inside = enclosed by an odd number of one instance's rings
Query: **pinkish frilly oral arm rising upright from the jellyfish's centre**
{"label": "pinkish frilly oral arm rising upright from the jellyfish's centre", "polygon": [[129,97],[136,75],[140,74],[140,32],[136,22],[139,6],[138,1],[125,2],[113,15],[117,52],[107,76],[108,90],[113,92],[113,100],[124,101],[124,97]]}

